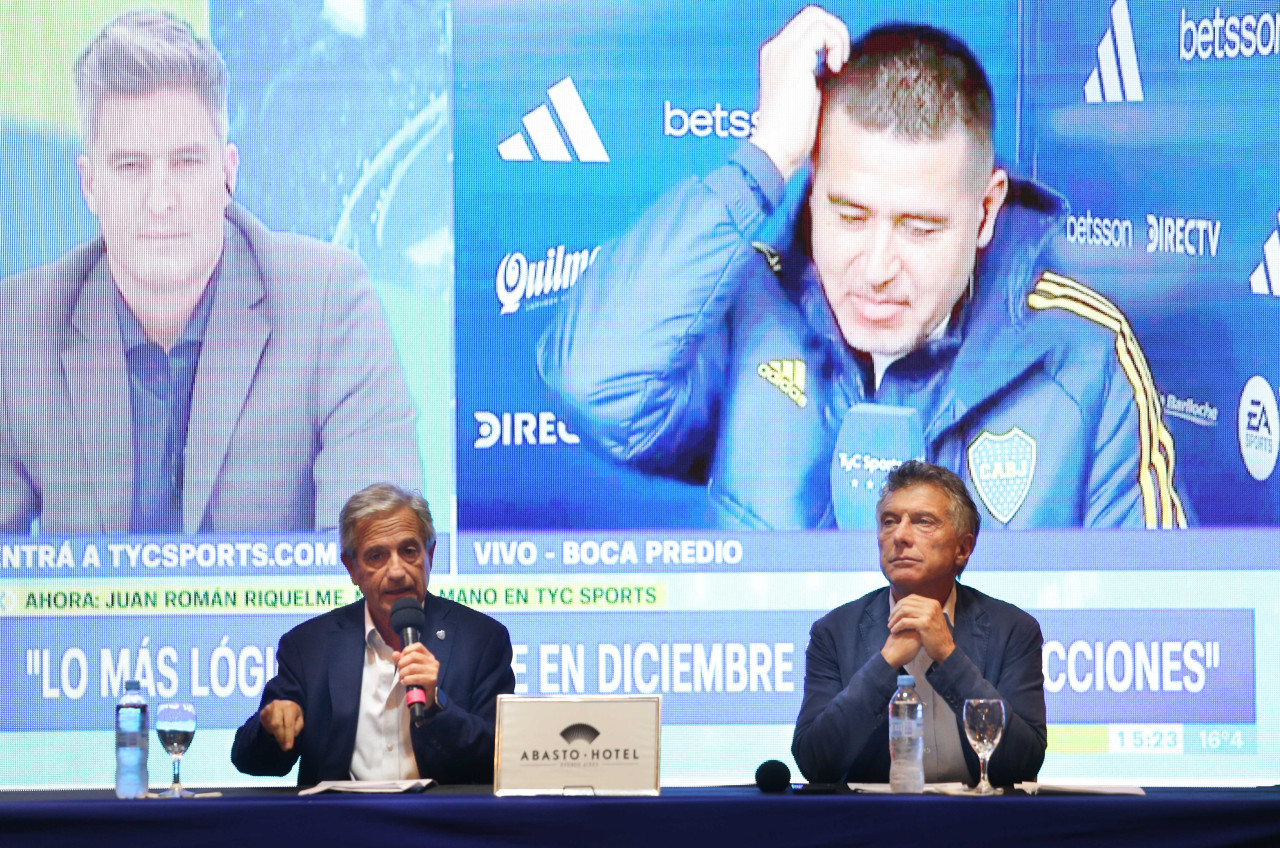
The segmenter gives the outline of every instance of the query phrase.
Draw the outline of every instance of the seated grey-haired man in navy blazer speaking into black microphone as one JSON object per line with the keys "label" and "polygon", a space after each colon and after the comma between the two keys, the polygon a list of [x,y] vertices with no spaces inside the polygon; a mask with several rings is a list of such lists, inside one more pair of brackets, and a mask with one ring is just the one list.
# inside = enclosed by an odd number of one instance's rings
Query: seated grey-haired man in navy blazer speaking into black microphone
{"label": "seated grey-haired man in navy blazer speaking into black microphone", "polygon": [[[298,784],[434,778],[489,783],[497,698],[515,689],[511,637],[498,621],[429,594],[435,530],[426,502],[388,483],[342,509],[342,561],[364,599],[293,628],[279,673],[236,731],[232,762]],[[425,603],[424,642],[390,626],[402,597]],[[404,687],[421,687],[428,720],[413,725]]]}

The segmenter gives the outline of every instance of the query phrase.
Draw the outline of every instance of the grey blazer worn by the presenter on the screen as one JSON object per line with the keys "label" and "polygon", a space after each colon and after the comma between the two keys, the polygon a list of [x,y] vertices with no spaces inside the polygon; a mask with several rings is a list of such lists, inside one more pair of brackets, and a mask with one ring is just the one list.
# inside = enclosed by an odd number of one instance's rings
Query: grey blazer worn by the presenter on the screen
{"label": "grey blazer worn by the presenter on the screen", "polygon": [[[237,205],[200,366],[182,529],[338,525],[370,483],[422,487],[417,410],[351,251]],[[0,284],[0,532],[129,530],[129,375],[101,238]]]}

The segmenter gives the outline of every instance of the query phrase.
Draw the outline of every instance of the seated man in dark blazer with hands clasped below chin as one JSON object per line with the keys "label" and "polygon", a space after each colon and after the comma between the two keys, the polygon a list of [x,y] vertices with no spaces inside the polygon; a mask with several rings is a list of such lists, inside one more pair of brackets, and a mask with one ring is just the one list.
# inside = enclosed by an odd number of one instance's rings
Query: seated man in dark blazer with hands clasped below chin
{"label": "seated man in dark blazer with hands clasped below chin", "polygon": [[993,784],[1034,780],[1044,761],[1039,624],[1011,603],[960,585],[978,538],[978,509],[947,469],[909,461],[876,507],[890,585],[819,619],[805,651],[804,701],[791,753],[813,781],[888,780],[888,702],[900,669],[924,701],[924,779],[977,783],[964,702],[1001,698],[1005,733]]}

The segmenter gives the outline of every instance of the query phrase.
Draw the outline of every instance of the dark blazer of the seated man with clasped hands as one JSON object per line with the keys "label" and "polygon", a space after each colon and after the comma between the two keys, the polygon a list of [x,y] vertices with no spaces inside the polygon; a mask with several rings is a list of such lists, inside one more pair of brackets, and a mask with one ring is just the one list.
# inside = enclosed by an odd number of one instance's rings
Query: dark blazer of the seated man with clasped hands
{"label": "dark blazer of the seated man with clasped hands", "polygon": [[[888,701],[899,670],[881,648],[888,638],[888,587],[832,610],[813,625],[805,651],[804,701],[791,753],[815,783],[888,780]],[[956,649],[925,678],[956,713],[965,762],[964,702],[1004,698],[1005,734],[991,757],[993,784],[1034,780],[1044,761],[1044,675],[1039,624],[1011,603],[956,584]]]}

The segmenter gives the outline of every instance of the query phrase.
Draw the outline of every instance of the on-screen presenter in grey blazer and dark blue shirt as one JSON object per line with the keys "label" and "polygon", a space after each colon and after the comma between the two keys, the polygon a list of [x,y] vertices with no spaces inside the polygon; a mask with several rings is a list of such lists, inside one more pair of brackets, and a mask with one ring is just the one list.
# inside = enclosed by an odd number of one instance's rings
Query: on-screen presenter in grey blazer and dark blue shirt
{"label": "on-screen presenter in grey blazer and dark blue shirt", "polygon": [[124,13],[76,99],[101,237],[0,284],[0,532],[329,528],[374,480],[420,488],[360,260],[232,202],[214,46]]}

